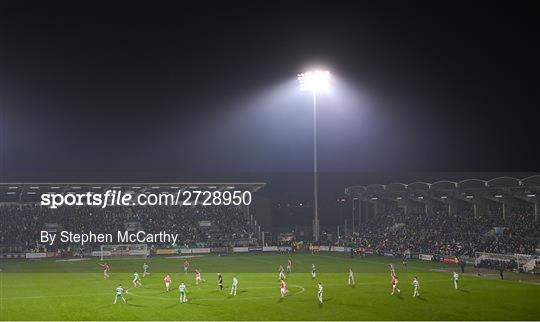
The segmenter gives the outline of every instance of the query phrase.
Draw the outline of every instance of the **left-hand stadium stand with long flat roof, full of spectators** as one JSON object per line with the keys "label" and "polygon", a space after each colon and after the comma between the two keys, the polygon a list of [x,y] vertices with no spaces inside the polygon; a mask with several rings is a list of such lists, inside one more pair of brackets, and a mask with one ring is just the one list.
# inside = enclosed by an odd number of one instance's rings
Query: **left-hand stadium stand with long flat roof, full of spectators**
{"label": "left-hand stadium stand with long flat roof, full of spectators", "polygon": [[[238,189],[254,192],[264,184],[129,184],[137,193],[178,189]],[[59,246],[36,243],[41,230],[112,233],[145,230],[172,231],[182,247],[253,245],[260,231],[249,206],[41,206],[39,193],[61,190],[78,193],[124,189],[120,184],[4,184],[0,186],[0,252],[56,251]],[[76,189],[74,189],[76,188]],[[155,247],[164,245],[153,245]],[[169,245],[170,246],[170,245]],[[65,246],[60,246],[65,248]],[[88,248],[97,245],[88,244]]]}

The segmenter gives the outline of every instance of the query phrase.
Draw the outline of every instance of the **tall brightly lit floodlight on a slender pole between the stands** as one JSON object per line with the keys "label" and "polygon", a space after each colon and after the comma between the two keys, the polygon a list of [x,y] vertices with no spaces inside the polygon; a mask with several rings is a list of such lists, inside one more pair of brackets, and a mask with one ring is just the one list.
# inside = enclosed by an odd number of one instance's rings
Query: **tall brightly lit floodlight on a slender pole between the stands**
{"label": "tall brightly lit floodlight on a slender pole between the stands", "polygon": [[313,238],[319,241],[319,193],[317,184],[317,93],[330,88],[330,72],[314,70],[298,74],[301,91],[313,96]]}

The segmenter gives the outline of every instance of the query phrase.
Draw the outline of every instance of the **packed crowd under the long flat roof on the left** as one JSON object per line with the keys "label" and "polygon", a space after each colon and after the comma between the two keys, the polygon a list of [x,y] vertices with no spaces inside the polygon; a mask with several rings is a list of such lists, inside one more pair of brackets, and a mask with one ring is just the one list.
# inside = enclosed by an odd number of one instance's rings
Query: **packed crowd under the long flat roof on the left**
{"label": "packed crowd under the long flat roof on the left", "polygon": [[[0,245],[23,251],[39,247],[40,231],[113,233],[124,230],[177,233],[179,246],[225,245],[251,240],[255,228],[234,206],[60,207],[35,204],[0,205]],[[95,245],[89,245],[90,247]],[[49,247],[52,248],[52,247]]]}

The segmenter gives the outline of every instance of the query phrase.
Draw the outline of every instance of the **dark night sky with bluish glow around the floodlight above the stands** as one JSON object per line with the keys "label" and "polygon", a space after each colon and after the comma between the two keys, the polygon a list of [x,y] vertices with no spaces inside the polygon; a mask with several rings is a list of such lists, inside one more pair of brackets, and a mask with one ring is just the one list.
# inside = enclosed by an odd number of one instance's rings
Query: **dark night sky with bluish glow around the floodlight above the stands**
{"label": "dark night sky with bluish glow around the floodlight above the stands", "polygon": [[0,175],[538,171],[532,3],[3,1]]}

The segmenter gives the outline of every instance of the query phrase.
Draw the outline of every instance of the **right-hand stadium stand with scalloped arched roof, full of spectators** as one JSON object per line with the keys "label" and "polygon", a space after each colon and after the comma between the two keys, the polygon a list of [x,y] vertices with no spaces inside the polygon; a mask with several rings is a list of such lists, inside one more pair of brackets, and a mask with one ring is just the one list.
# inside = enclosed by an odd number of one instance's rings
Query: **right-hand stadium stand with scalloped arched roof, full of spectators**
{"label": "right-hand stadium stand with scalloped arched roof, full of spectators", "polygon": [[[341,246],[379,254],[529,254],[540,241],[540,176],[346,188],[356,228]],[[501,265],[484,260],[481,265]],[[509,268],[515,263],[505,263]]]}

